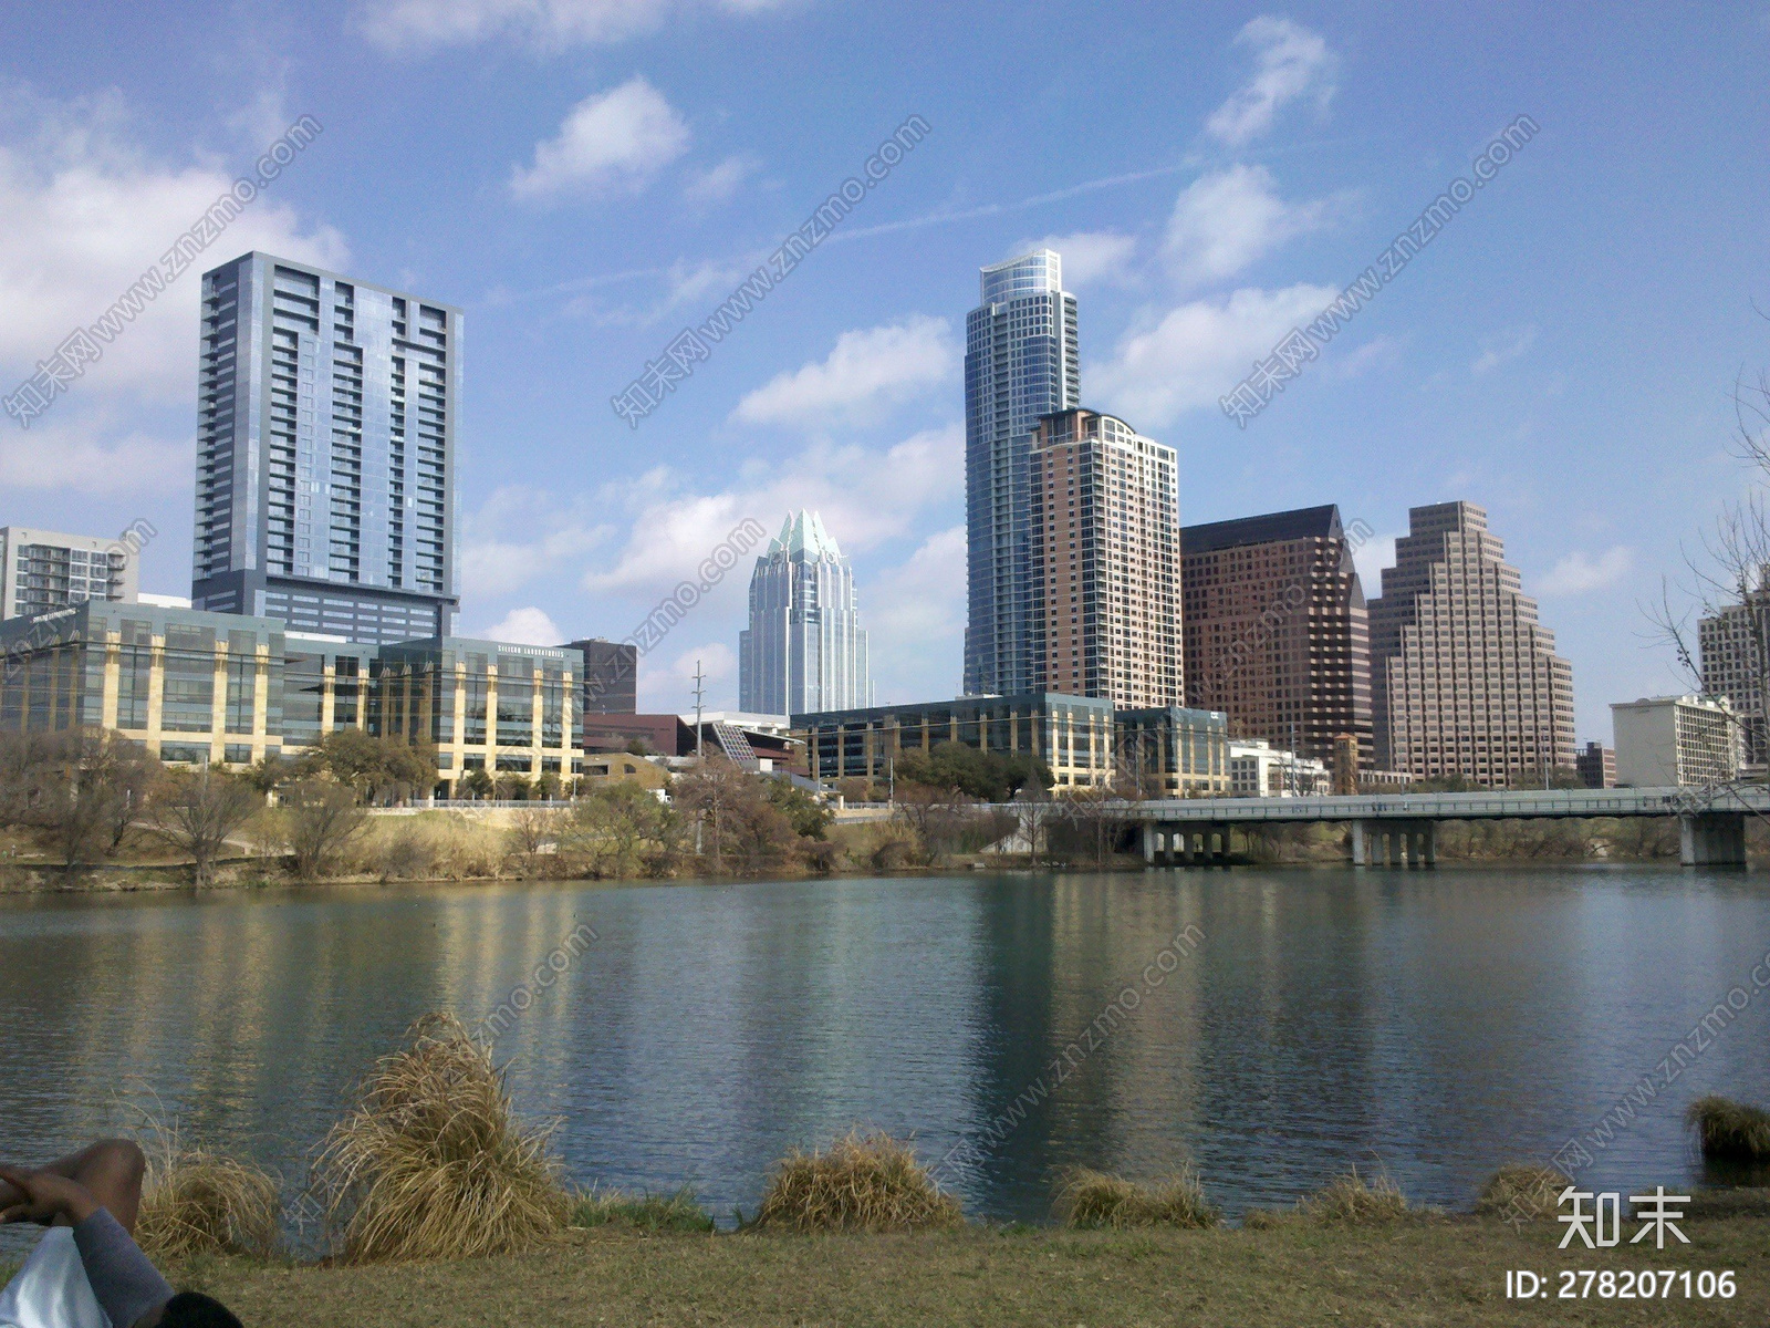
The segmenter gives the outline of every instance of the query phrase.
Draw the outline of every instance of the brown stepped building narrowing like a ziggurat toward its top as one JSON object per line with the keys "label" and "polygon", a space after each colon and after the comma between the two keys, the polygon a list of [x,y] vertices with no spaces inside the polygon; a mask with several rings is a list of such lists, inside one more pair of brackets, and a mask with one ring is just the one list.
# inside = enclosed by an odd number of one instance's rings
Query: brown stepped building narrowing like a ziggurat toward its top
{"label": "brown stepped building narrowing like a ziggurat toward its top", "polygon": [[1416,779],[1542,779],[1574,765],[1574,668],[1554,653],[1474,503],[1407,512],[1370,602],[1375,760]]}

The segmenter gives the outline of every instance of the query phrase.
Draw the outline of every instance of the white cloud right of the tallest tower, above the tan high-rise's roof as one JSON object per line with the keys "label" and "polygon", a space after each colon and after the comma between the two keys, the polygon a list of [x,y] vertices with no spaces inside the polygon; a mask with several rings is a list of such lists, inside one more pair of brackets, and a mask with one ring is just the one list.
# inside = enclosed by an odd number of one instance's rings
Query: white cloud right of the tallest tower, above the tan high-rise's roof
{"label": "white cloud right of the tallest tower, above the tan high-rise's roof", "polygon": [[1083,379],[1133,429],[1159,429],[1186,411],[1218,409],[1253,361],[1267,358],[1292,328],[1338,294],[1333,287],[1292,285],[1191,301],[1154,326],[1126,333],[1113,358],[1083,370]]}

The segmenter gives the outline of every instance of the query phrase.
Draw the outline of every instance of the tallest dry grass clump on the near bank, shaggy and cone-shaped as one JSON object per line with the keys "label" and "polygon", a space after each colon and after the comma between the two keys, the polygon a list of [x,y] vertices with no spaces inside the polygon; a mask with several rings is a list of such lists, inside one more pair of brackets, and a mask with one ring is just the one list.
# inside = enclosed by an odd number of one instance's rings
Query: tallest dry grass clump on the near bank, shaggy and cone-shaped
{"label": "tallest dry grass clump on the near bank, shaggy and cone-shaped", "polygon": [[513,1254],[558,1232],[568,1201],[550,1130],[515,1121],[492,1052],[427,1015],[377,1062],[315,1162],[349,1262]]}

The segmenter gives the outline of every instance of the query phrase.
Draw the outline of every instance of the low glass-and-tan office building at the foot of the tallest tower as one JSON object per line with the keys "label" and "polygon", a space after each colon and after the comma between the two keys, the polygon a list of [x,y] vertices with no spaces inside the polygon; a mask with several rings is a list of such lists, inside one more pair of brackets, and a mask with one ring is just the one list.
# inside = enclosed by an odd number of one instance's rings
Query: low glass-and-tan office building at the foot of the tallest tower
{"label": "low glass-and-tan office building at the foot of the tallest tower", "polygon": [[943,742],[979,751],[1027,753],[1044,761],[1058,788],[1103,788],[1113,776],[1112,701],[1053,696],[965,696],[958,701],[887,705],[793,715],[812,779],[887,779],[904,751]]}

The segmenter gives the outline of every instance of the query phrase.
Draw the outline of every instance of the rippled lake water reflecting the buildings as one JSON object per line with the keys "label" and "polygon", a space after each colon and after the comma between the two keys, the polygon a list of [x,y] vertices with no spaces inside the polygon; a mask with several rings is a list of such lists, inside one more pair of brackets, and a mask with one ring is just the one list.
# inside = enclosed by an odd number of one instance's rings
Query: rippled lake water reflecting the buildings
{"label": "rippled lake water reflecting the buildings", "polygon": [[[968,1211],[1043,1218],[1064,1165],[1156,1176],[1188,1158],[1232,1213],[1354,1163],[1466,1206],[1501,1163],[1586,1139],[1630,1089],[1643,1105],[1582,1179],[1687,1183],[1692,1098],[1770,1101],[1770,990],[1751,977],[1770,951],[1761,875],[14,896],[0,1156],[150,1105],[294,1183],[409,1020],[485,1015],[581,923],[598,938],[497,1039],[515,1096],[561,1117],[573,1181],[694,1185],[720,1213],[752,1208],[789,1146],[857,1123],[950,1156]],[[1150,988],[1184,928],[1197,949]],[[1743,1011],[1667,1084],[1662,1062],[1736,988]]]}

